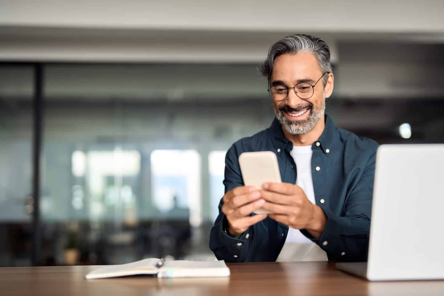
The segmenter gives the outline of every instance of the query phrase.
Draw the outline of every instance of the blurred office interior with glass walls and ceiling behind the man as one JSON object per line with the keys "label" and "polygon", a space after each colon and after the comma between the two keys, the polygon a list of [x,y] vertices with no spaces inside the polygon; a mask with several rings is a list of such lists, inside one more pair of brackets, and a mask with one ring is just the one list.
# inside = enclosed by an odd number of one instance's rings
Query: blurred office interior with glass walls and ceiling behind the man
{"label": "blurred office interior with glass walls and ceiling behind the man", "polygon": [[1,1],[0,266],[214,260],[225,152],[270,126],[256,67],[293,33],[330,46],[337,126],[381,144],[443,142],[443,11]]}

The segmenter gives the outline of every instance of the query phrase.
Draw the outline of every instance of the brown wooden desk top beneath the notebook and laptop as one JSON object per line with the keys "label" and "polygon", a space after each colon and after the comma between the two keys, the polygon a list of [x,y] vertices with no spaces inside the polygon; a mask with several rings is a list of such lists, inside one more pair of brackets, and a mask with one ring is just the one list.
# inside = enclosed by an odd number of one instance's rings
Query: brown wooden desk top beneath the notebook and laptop
{"label": "brown wooden desk top beneath the notebook and laptop", "polygon": [[85,280],[97,266],[0,268],[9,295],[444,295],[443,281],[368,282],[334,263],[228,264],[230,278],[157,279],[133,276]]}

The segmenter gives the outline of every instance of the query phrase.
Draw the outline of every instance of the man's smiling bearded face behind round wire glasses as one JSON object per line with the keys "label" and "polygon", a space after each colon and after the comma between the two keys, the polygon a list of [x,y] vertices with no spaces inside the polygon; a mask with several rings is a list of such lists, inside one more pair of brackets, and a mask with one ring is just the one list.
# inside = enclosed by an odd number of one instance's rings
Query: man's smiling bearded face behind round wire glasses
{"label": "man's smiling bearded face behind round wire glasses", "polygon": [[[274,60],[270,86],[279,84],[294,87],[300,82],[313,85],[322,73],[317,59],[311,53],[280,55]],[[321,79],[314,87],[313,96],[310,99],[301,99],[293,89],[289,89],[285,100],[273,100],[276,118],[289,134],[305,134],[316,125],[319,119],[323,118],[325,97],[328,98],[333,91],[333,75],[325,74],[325,76],[329,77],[327,92],[324,91],[324,83]]]}

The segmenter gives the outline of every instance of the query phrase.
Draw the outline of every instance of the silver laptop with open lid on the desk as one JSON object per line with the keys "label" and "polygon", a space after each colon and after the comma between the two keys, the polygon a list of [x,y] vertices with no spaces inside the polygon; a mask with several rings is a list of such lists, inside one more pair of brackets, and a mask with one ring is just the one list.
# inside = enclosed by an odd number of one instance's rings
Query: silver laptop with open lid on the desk
{"label": "silver laptop with open lid on the desk", "polygon": [[368,280],[444,279],[444,145],[381,145],[368,262],[336,263]]}

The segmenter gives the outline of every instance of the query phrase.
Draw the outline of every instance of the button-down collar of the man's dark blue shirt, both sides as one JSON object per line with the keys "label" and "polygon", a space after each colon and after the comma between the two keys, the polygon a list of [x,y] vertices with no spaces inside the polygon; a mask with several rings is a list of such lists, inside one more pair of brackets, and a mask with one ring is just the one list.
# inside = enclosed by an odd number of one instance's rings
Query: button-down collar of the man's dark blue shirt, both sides
{"label": "button-down collar of the man's dark blue shirt, both sides", "polygon": [[[312,147],[313,149],[320,147],[322,151],[324,151],[324,153],[328,155],[330,152],[329,149],[333,140],[333,135],[336,132],[337,128],[334,125],[333,120],[327,114],[325,114],[324,117],[325,117],[324,130],[322,131],[321,137],[319,137],[319,139],[312,144]],[[284,132],[282,131],[281,123],[277,120],[277,118],[274,118],[269,130],[274,144],[274,148],[276,150],[280,151],[286,149],[287,151],[290,151],[293,149],[292,142],[290,142],[284,137]],[[319,142],[319,146],[317,142]]]}

